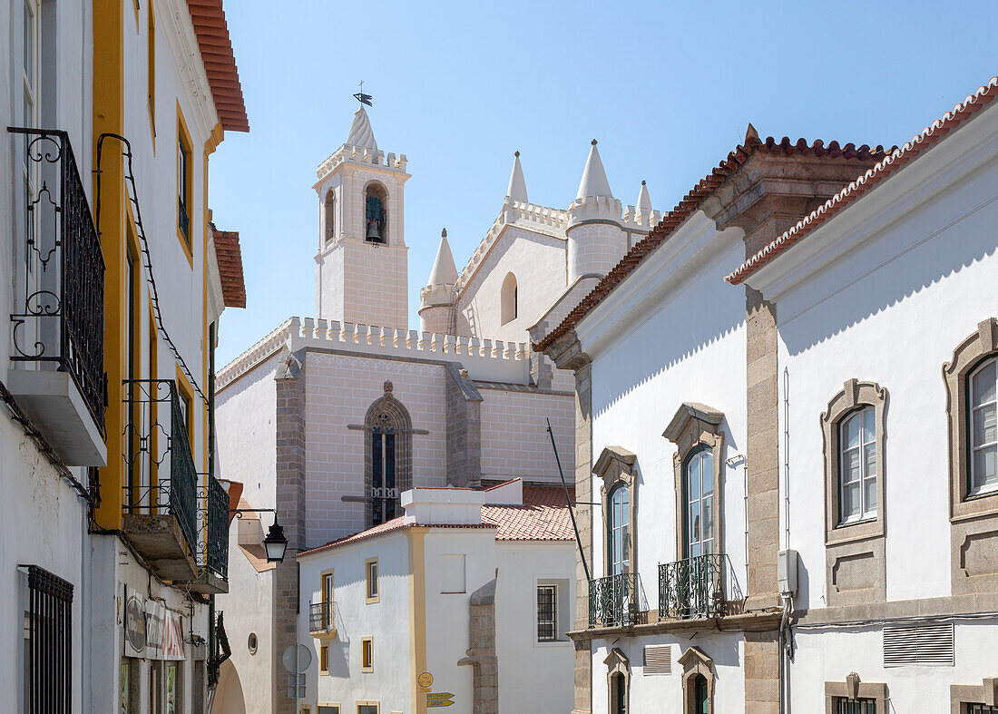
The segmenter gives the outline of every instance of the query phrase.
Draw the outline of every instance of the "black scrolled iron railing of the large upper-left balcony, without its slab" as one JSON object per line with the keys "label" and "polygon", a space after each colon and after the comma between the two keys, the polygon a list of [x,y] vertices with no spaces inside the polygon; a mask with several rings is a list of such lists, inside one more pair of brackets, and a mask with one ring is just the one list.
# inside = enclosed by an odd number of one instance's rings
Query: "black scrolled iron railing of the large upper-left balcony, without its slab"
{"label": "black scrolled iron railing of the large upper-left balcony, without its slab", "polygon": [[67,372],[101,435],[104,372],[104,257],[69,135],[9,127],[26,185],[15,220],[21,243],[12,323],[14,361]]}

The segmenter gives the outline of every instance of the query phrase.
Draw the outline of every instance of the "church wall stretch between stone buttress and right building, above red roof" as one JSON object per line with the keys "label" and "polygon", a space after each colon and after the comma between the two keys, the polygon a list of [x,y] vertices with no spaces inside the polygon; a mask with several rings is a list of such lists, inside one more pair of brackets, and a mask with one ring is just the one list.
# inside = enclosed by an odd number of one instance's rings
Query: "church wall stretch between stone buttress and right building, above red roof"
{"label": "church wall stretch between stone buttress and right building, above red roof", "polygon": [[574,396],[495,389],[482,395],[482,476],[561,483],[546,418],[569,483],[575,479]]}

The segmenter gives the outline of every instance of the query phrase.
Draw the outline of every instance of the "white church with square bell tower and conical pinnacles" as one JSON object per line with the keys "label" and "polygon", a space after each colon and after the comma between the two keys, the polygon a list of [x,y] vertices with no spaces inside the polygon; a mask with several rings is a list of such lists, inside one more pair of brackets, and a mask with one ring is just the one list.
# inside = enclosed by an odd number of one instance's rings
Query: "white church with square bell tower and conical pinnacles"
{"label": "white church with square bell tower and conical pinnacles", "polygon": [[[218,375],[220,474],[234,502],[275,509],[288,556],[400,516],[414,487],[561,486],[552,439],[573,486],[574,385],[529,349],[529,331],[560,321],[660,219],[644,186],[637,208],[613,197],[595,142],[567,210],[529,203],[517,156],[461,272],[441,239],[410,330],[407,171],[361,107],[316,171],[315,316],[285,321]],[[253,701],[299,714],[280,664],[301,634],[298,581],[291,557],[274,567],[258,552],[271,518],[234,521],[230,579],[243,594],[220,598],[233,656],[217,711]]]}

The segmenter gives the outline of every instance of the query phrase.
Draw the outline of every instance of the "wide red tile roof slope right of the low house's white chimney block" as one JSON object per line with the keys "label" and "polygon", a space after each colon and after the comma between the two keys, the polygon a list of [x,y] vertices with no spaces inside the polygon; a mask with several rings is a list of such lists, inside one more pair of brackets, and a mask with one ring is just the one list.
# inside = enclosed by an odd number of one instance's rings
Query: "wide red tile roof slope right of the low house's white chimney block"
{"label": "wide red tile roof slope right of the low house's white chimney block", "polygon": [[496,540],[575,540],[562,488],[524,486],[523,505],[484,505],[482,519],[496,525]]}

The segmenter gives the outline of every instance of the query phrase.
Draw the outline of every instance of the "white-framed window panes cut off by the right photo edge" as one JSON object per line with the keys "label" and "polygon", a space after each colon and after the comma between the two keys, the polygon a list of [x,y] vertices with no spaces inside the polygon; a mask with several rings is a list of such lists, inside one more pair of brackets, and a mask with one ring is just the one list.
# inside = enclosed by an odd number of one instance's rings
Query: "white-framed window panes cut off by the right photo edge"
{"label": "white-framed window panes cut off by the right photo edge", "polygon": [[967,495],[998,490],[998,357],[986,360],[971,372],[970,469]]}

